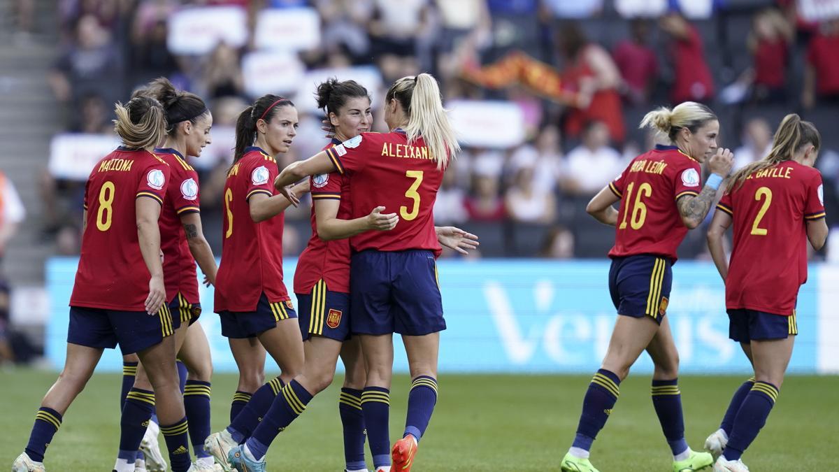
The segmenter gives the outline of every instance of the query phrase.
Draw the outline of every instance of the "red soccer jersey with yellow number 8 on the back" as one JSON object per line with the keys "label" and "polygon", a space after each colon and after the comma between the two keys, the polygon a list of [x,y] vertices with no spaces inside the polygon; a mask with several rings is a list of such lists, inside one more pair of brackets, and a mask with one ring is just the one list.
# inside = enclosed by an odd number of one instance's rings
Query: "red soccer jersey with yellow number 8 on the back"
{"label": "red soccer jersey with yellow number 8 on the back", "polygon": [[145,311],[149,269],[137,234],[138,198],[161,205],[169,165],[146,150],[118,148],[91,170],[85,187],[86,228],[70,306]]}

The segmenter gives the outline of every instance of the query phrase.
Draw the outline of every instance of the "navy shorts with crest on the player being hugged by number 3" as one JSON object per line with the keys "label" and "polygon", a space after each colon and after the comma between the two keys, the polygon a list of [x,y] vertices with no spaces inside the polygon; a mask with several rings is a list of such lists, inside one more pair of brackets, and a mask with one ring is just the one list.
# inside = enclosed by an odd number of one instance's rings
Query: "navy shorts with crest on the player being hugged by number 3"
{"label": "navy shorts with crest on the player being hugged by number 3", "polygon": [[309,293],[295,293],[303,340],[314,336],[343,343],[350,338],[350,294],[331,291],[318,281]]}

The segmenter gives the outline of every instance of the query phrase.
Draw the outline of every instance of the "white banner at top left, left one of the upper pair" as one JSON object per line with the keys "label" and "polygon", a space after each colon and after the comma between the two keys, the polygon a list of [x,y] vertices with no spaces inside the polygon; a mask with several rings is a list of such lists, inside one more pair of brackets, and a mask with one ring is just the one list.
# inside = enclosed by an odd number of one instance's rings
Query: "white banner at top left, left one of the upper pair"
{"label": "white banner at top left, left one of the upper pair", "polygon": [[203,55],[221,42],[240,48],[247,41],[248,15],[241,7],[185,8],[169,17],[172,54]]}

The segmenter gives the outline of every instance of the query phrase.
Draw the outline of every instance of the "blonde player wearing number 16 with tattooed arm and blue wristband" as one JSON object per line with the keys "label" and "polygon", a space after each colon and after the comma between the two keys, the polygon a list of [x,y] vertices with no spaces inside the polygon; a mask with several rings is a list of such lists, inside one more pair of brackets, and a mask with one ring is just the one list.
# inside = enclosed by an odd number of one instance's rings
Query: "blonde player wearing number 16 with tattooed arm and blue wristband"
{"label": "blonde player wearing number 16 with tattooed arm and blue wristband", "polygon": [[[670,267],[676,249],[688,229],[705,218],[717,188],[731,170],[732,153],[717,148],[717,117],[696,102],[647,113],[641,127],[666,134],[670,145],[656,146],[633,159],[586,207],[598,221],[617,227],[615,246],[609,251],[609,292],[618,320],[601,369],[583,398],[576,438],[562,459],[563,471],[597,471],[588,459],[591,443],[618,401],[621,381],[644,349],[655,364],[653,406],[673,452],[673,469],[698,470],[713,462],[711,454],[696,453],[685,442],[676,382],[679,354],[664,313],[670,302]],[[711,176],[701,186],[700,164],[706,161]],[[616,211],[612,204],[618,200]]]}

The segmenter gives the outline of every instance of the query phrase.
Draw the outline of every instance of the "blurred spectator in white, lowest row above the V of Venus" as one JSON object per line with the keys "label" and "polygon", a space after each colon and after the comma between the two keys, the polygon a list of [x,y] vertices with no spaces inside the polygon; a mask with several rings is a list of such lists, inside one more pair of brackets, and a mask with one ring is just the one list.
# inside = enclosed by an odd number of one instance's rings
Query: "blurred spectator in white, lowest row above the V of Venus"
{"label": "blurred spectator in white, lowest row above the V of Venus", "polygon": [[519,223],[548,224],[556,215],[556,199],[553,192],[534,186],[533,166],[521,167],[513,180],[513,186],[504,196],[504,206],[513,221]]}

